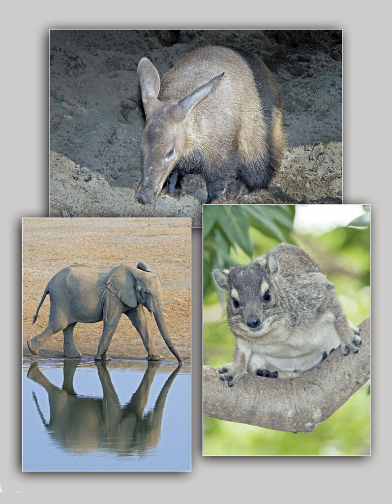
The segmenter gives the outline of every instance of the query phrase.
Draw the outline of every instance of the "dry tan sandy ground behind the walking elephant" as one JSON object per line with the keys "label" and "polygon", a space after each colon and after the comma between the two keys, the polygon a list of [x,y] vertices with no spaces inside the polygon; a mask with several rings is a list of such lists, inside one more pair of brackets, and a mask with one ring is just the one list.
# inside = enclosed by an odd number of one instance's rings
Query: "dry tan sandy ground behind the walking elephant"
{"label": "dry tan sandy ground behind the walking elephant", "polygon": [[[45,298],[39,316],[33,315],[50,278],[71,264],[106,266],[145,262],[159,276],[166,323],[179,355],[190,359],[190,222],[189,219],[24,219],[23,221],[23,355],[31,355],[26,341],[48,323],[50,300]],[[150,333],[166,360],[175,360],[153,317]],[[75,343],[82,357],[94,358],[102,322],[78,324]],[[39,357],[62,357],[62,332],[53,335]],[[111,341],[112,358],[147,358],[142,340],[121,316]]]}

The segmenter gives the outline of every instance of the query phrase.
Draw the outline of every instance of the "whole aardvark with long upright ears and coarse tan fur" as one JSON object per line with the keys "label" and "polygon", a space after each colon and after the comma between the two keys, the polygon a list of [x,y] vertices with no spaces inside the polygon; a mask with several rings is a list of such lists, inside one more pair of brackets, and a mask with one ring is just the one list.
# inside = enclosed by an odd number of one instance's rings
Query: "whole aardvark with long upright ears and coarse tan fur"
{"label": "whole aardvark with long upright ears and coarse tan fur", "polygon": [[284,155],[282,101],[272,73],[241,49],[205,46],[160,83],[151,61],[138,66],[146,126],[136,199],[155,203],[163,184],[180,192],[185,173],[201,173],[207,202],[264,187]]}

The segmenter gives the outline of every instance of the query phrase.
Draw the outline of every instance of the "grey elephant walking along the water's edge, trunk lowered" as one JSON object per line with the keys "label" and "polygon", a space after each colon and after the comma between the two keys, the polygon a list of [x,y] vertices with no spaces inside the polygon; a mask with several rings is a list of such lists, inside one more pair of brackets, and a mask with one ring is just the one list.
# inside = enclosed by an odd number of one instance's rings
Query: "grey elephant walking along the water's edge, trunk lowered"
{"label": "grey elephant walking along the water's edge, trunk lowered", "polygon": [[64,334],[64,357],[80,357],[74,342],[74,328],[78,322],[91,324],[103,321],[103,332],[95,360],[110,360],[106,354],[121,314],[132,321],[148,352],[149,360],[159,360],[154,343],[150,340],[145,306],[154,314],[163,339],[180,364],[181,357],[174,348],[164,320],[162,289],[159,279],[148,266],[139,263],[136,268],[125,266],[93,267],[73,265],[56,273],[46,286],[38,311],[47,294],[50,297],[48,327],[27,342],[29,350],[37,355],[50,336]]}

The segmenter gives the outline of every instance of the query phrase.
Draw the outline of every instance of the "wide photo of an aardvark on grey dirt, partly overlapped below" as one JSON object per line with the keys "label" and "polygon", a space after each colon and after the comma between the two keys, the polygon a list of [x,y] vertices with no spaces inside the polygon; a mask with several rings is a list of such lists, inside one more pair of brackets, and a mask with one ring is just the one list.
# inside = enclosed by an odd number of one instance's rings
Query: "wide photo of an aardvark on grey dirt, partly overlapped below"
{"label": "wide photo of an aardvark on grey dirt, partly overlapped below", "polygon": [[341,30],[51,30],[50,215],[342,202]]}

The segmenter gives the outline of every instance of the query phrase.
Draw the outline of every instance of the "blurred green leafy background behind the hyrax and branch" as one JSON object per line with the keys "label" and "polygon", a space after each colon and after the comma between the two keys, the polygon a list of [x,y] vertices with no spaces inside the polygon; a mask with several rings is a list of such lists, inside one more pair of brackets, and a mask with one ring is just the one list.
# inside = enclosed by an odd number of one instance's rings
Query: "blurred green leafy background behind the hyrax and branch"
{"label": "blurred green leafy background behind the hyrax and branch", "polygon": [[[215,288],[213,269],[246,264],[282,241],[303,248],[318,263],[336,285],[351,322],[358,325],[369,317],[370,210],[366,206],[364,210],[364,215],[345,227],[313,235],[294,231],[295,206],[204,207],[204,364],[220,367],[231,362],[234,350],[234,336],[223,308],[224,294]],[[204,454],[367,453],[370,434],[367,391],[368,387],[359,390],[312,433],[292,434],[205,417]]]}

